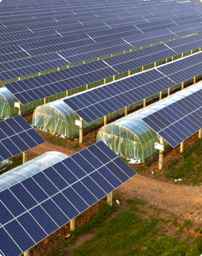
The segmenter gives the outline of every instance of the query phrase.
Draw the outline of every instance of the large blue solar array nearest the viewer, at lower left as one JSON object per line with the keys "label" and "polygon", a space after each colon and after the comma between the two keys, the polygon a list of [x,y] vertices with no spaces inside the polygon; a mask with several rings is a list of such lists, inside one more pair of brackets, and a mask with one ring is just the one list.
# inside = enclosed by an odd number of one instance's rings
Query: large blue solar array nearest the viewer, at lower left
{"label": "large blue solar array nearest the viewer, at lower left", "polygon": [[1,254],[21,255],[134,175],[99,141],[5,189],[0,192]]}

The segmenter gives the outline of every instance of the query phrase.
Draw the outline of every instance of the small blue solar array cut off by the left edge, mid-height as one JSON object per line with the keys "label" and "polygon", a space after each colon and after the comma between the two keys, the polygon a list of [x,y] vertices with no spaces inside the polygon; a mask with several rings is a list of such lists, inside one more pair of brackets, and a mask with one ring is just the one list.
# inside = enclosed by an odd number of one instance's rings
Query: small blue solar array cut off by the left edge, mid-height
{"label": "small blue solar array cut off by the left edge, mid-height", "polygon": [[44,139],[21,115],[0,121],[0,161],[44,142]]}

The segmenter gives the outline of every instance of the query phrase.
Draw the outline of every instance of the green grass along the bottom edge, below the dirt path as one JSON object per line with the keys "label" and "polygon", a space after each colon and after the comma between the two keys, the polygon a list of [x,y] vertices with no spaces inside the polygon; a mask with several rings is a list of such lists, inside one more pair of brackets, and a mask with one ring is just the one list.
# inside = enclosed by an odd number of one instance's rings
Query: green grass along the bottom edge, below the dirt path
{"label": "green grass along the bottom edge, below the dirt path", "polygon": [[190,245],[163,234],[161,219],[142,220],[130,211],[123,211],[101,228],[91,240],[71,255],[201,255],[202,241]]}

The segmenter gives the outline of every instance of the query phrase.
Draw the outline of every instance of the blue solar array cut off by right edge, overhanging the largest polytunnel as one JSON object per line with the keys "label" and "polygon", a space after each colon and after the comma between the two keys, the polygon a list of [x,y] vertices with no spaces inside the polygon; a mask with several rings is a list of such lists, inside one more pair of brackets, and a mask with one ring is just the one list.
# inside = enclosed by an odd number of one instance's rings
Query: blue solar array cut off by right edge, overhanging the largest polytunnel
{"label": "blue solar array cut off by right edge, overhanging the largest polytunnel", "polygon": [[172,147],[202,129],[202,89],[154,112],[143,121]]}

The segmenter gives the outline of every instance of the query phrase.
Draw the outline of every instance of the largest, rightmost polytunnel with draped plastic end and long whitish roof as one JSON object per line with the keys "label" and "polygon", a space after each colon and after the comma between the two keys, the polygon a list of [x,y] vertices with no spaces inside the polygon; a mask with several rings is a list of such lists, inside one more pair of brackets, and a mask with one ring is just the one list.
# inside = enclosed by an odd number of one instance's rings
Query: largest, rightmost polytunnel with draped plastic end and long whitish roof
{"label": "largest, rightmost polytunnel with draped plastic end and long whitish roof", "polygon": [[154,143],[159,142],[160,139],[142,119],[201,88],[202,82],[199,82],[101,127],[97,134],[97,141],[102,140],[121,155],[138,160],[137,162],[144,162],[145,159],[156,154]]}

